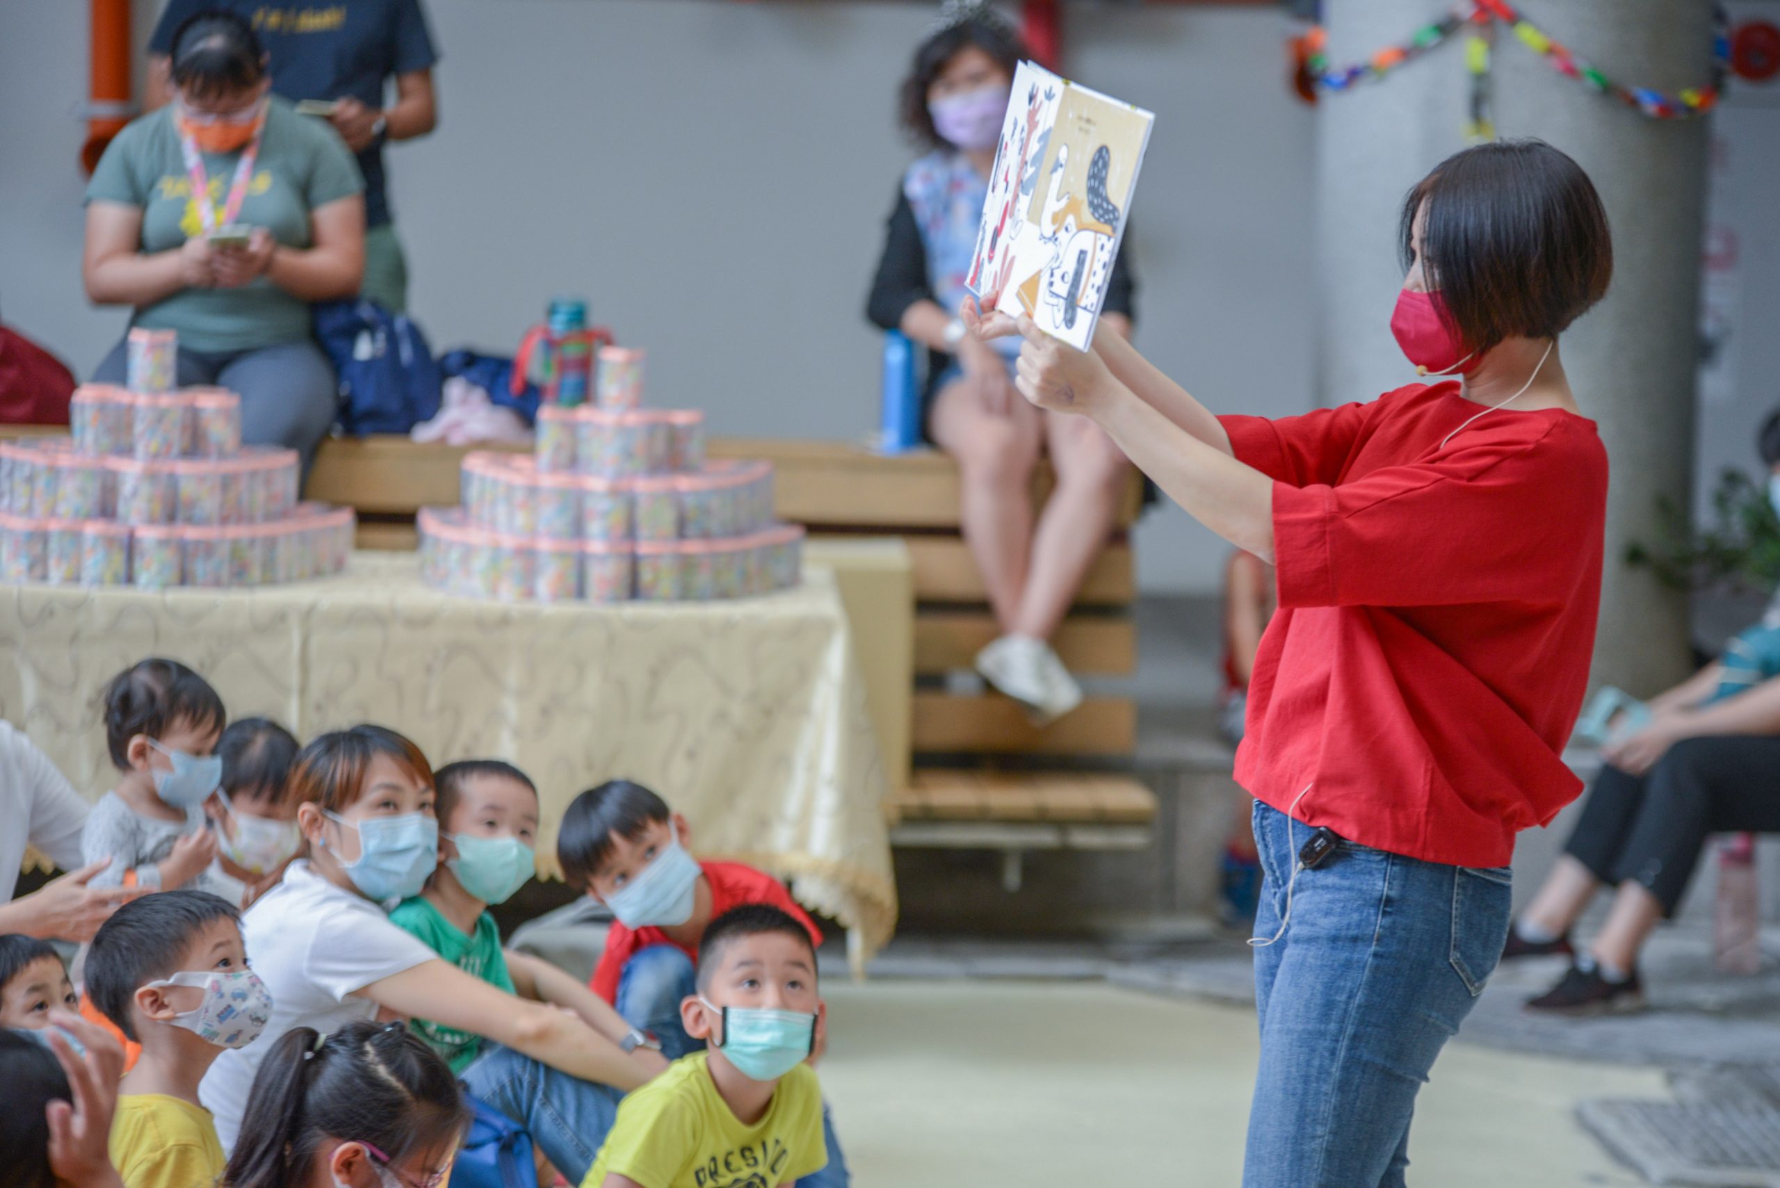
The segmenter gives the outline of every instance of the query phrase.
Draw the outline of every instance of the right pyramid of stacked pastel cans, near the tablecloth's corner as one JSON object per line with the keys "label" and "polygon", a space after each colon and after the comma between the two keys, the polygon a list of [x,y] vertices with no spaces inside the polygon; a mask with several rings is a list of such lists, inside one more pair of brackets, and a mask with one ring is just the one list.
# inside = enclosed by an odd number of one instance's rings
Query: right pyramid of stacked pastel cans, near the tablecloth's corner
{"label": "right pyramid of stacked pastel cans, near the tablecloth's corner", "polygon": [[466,598],[552,603],[796,585],[803,528],[773,521],[771,462],[707,462],[703,413],[635,407],[641,352],[621,373],[607,352],[600,388],[612,407],[543,405],[532,455],[466,455],[463,505],[420,512],[425,580]]}

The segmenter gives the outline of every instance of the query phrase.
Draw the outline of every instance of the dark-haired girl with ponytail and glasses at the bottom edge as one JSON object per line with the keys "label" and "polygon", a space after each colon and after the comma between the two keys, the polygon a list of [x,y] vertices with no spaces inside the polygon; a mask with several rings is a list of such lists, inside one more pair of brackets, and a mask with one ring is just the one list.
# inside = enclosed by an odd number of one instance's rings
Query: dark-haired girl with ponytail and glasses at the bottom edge
{"label": "dark-haired girl with ponytail and glasses at the bottom edge", "polygon": [[434,1188],[468,1120],[402,1023],[287,1031],[260,1064],[222,1188]]}

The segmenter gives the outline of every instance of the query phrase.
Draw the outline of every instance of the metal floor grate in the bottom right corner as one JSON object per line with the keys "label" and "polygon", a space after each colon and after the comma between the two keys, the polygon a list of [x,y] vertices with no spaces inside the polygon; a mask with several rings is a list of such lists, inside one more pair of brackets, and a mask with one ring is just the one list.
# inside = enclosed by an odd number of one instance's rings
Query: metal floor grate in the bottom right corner
{"label": "metal floor grate in the bottom right corner", "polygon": [[1780,1110],[1769,1104],[1584,1101],[1577,1119],[1652,1184],[1780,1188]]}

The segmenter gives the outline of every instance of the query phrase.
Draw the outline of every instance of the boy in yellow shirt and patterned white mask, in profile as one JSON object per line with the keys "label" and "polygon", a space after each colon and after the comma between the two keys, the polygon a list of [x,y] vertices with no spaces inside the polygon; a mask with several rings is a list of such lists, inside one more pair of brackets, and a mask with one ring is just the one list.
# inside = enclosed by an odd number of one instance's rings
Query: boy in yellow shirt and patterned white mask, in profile
{"label": "boy in yellow shirt and patterned white mask, in profile", "polygon": [[247,969],[240,912],[208,891],[146,895],[100,927],[85,975],[93,1005],[142,1046],[110,1131],[125,1188],[208,1188],[224,1156],[198,1083],[272,1017],[272,996]]}

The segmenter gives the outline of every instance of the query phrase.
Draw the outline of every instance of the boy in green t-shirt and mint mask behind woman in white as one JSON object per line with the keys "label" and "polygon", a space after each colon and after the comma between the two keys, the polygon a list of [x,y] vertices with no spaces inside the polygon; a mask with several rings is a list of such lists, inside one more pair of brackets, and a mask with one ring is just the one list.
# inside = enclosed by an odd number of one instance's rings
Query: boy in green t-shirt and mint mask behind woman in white
{"label": "boy in green t-shirt and mint mask behind woman in white", "polygon": [[[660,1053],[598,994],[546,960],[500,948],[500,928],[488,907],[511,898],[538,864],[538,786],[530,777],[500,759],[468,759],[441,767],[433,779],[443,861],[425,889],[402,900],[390,919],[465,973],[575,1012],[650,1076],[666,1069]],[[409,1026],[450,1062],[452,1072],[461,1074],[481,1055],[477,1035],[429,1019]]]}

